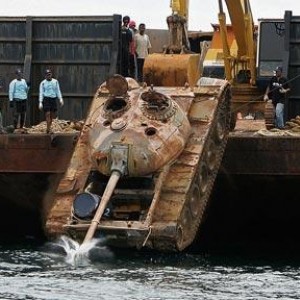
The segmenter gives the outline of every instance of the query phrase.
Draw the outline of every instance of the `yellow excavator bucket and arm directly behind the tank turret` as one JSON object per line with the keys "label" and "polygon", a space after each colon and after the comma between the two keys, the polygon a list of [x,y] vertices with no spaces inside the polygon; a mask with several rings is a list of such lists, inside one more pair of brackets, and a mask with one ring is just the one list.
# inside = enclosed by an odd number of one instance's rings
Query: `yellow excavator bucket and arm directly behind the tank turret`
{"label": "yellow excavator bucket and arm directly behind the tank turret", "polygon": [[188,0],[171,0],[167,17],[169,43],[161,53],[150,54],[144,64],[147,84],[155,86],[195,86],[199,77],[200,54],[190,51]]}

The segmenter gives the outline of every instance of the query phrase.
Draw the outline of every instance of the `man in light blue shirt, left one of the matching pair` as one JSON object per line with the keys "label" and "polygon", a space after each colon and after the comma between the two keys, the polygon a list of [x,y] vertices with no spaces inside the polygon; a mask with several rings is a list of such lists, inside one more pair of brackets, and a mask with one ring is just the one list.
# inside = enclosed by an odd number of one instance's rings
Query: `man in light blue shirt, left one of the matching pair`
{"label": "man in light blue shirt, left one of the matching pair", "polygon": [[17,69],[16,78],[13,79],[9,84],[9,107],[13,109],[14,112],[14,128],[20,125],[20,128],[23,128],[25,125],[26,119],[26,110],[27,110],[27,94],[28,94],[28,85],[23,79],[23,74],[21,69]]}

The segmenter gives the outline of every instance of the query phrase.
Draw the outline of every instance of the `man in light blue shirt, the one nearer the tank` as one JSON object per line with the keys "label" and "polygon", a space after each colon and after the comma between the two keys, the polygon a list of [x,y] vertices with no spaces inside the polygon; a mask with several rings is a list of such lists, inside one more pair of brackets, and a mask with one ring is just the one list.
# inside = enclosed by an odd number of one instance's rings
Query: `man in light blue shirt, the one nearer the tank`
{"label": "man in light blue shirt, the one nearer the tank", "polygon": [[64,105],[59,82],[52,78],[51,70],[47,69],[45,79],[40,83],[39,89],[39,109],[45,113],[47,133],[50,133],[52,121],[57,112],[57,100],[59,100],[60,106]]}

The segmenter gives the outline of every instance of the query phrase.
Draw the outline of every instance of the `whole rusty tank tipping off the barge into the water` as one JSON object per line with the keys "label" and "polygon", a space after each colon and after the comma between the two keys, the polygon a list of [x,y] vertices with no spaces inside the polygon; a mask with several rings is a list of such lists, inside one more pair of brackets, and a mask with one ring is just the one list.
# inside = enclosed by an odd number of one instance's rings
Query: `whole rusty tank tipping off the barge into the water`
{"label": "whole rusty tank tipping off the barge into the water", "polygon": [[220,79],[190,88],[109,78],[53,197],[47,236],[159,251],[191,245],[227,142],[230,99]]}

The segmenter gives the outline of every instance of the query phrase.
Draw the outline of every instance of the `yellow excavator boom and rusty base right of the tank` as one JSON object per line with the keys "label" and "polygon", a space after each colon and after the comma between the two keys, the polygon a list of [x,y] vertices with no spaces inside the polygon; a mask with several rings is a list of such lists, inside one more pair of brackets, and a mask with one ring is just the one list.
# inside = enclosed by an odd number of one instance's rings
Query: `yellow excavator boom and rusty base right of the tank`
{"label": "yellow excavator boom and rusty base right of the tank", "polygon": [[[254,24],[250,0],[218,0],[218,2],[225,78],[232,84],[231,129],[235,127],[238,113],[242,117],[249,118],[264,116],[268,126],[273,115],[272,111],[266,110],[262,92],[257,86],[257,27]],[[230,25],[226,23],[223,3],[228,10]]]}

